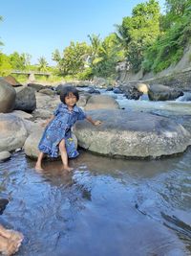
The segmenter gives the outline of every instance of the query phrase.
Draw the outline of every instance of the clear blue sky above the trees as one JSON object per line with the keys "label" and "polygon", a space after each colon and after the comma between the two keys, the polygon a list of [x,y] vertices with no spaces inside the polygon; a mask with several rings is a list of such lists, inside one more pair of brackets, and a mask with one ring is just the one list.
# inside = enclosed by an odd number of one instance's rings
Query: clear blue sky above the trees
{"label": "clear blue sky above the trees", "polygon": [[[162,8],[165,0],[159,0]],[[55,49],[63,51],[71,41],[86,41],[87,35],[115,31],[124,16],[144,0],[1,0],[1,51],[29,53],[32,63],[45,57],[53,64]]]}

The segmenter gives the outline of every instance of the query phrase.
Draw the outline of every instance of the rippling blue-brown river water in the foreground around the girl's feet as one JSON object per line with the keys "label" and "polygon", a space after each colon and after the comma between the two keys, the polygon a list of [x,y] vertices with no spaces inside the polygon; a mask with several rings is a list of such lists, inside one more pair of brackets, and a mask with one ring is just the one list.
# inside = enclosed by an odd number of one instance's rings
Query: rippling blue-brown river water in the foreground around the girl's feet
{"label": "rippling blue-brown river water in the foreground around the girl's feet", "polygon": [[81,151],[36,173],[23,152],[0,163],[1,222],[25,235],[17,255],[190,255],[191,150],[168,159],[110,159]]}

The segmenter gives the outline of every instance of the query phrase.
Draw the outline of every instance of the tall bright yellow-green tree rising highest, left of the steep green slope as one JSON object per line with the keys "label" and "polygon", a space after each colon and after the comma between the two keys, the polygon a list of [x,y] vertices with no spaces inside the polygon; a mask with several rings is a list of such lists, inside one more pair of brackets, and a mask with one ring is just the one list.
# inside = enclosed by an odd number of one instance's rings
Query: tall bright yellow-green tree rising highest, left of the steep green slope
{"label": "tall bright yellow-green tree rising highest, left of the steep green slope", "polygon": [[126,50],[126,58],[131,68],[138,72],[146,48],[159,35],[159,3],[149,0],[133,9],[132,17],[124,17],[117,26],[117,38]]}

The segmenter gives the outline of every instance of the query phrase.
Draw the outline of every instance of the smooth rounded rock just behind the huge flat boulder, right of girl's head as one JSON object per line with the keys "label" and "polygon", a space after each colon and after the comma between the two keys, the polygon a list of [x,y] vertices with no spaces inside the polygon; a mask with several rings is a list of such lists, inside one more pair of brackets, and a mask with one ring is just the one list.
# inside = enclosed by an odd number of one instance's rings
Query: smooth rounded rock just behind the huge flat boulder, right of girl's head
{"label": "smooth rounded rock just behind the huge flat boulder, right of girl's head", "polygon": [[94,95],[92,96],[85,106],[85,110],[92,109],[118,109],[117,101],[108,95]]}

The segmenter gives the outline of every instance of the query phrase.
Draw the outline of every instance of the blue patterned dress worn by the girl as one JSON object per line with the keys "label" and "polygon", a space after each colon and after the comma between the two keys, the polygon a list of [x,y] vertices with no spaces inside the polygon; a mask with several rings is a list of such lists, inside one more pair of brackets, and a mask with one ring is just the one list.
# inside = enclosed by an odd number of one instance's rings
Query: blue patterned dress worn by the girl
{"label": "blue patterned dress worn by the girl", "polygon": [[86,118],[86,114],[81,108],[74,105],[70,111],[67,105],[59,104],[53,112],[52,122],[45,128],[38,149],[51,157],[57,157],[59,153],[58,145],[62,139],[65,139],[66,150],[69,158],[76,157],[79,153],[75,150],[74,140],[71,134],[71,128],[77,120]]}

